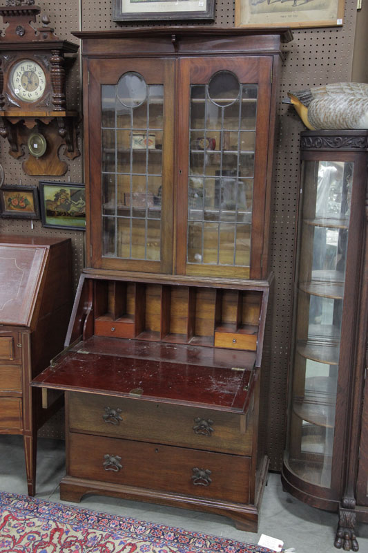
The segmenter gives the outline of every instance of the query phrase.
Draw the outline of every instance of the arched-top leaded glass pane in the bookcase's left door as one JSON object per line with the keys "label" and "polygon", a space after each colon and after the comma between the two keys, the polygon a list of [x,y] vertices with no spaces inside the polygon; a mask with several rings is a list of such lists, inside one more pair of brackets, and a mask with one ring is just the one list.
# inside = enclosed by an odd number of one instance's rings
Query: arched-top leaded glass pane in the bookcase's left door
{"label": "arched-top leaded glass pane in the bookcase's left door", "polygon": [[124,73],[101,113],[102,255],[160,261],[164,86]]}

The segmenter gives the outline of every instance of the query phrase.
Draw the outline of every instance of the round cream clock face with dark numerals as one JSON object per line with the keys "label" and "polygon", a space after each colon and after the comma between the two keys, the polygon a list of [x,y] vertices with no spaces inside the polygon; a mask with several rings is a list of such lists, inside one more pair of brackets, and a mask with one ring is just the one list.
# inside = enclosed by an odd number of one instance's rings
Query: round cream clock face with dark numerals
{"label": "round cream clock face with dark numerals", "polygon": [[46,88],[43,69],[31,59],[22,59],[10,72],[10,89],[23,102],[37,102]]}

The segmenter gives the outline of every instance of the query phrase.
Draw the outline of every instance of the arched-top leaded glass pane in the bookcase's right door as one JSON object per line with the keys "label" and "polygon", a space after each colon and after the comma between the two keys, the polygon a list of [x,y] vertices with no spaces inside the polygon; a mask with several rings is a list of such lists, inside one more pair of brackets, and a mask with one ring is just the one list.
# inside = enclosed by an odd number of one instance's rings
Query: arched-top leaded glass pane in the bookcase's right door
{"label": "arched-top leaded glass pane in the bookcase's right door", "polygon": [[188,263],[249,268],[257,94],[230,71],[191,86]]}

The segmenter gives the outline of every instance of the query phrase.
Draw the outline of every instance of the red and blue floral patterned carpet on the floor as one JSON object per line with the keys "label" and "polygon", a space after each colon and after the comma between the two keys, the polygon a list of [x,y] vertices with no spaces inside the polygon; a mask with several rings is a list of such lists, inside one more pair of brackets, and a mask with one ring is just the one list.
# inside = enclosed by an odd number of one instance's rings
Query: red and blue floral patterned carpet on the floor
{"label": "red and blue floral patterned carpet on the floor", "polygon": [[269,549],[0,491],[0,553],[270,553]]}

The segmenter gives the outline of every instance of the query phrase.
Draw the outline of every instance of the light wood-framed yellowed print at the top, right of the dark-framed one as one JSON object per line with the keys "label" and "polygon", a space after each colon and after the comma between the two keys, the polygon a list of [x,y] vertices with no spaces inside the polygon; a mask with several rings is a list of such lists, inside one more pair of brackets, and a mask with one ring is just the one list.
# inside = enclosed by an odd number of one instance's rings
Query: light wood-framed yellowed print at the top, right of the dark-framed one
{"label": "light wood-framed yellowed print at the top, right of the dark-framed one", "polygon": [[235,26],[342,25],[344,0],[235,0]]}

